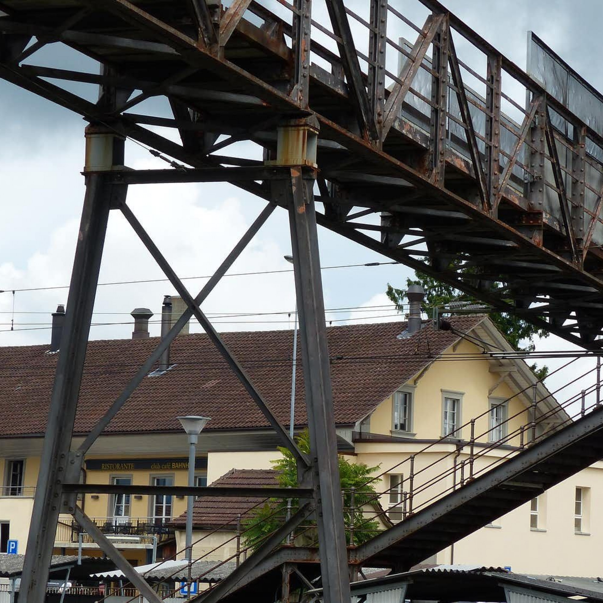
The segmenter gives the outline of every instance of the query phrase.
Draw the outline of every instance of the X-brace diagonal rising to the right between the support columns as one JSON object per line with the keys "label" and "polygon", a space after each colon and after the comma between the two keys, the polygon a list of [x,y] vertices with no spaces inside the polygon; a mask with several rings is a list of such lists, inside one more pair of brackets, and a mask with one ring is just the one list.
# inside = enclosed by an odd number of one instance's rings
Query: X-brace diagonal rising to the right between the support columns
{"label": "X-brace diagonal rising to the right between the support columns", "polygon": [[[212,277],[205,283],[203,289],[199,292],[197,297],[195,297],[195,302],[201,304],[207,295],[213,291],[213,288],[218,284],[219,280],[226,274],[229,268],[235,263],[235,260],[241,255],[242,251],[247,247],[250,243],[251,239],[256,235],[268,217],[274,211],[274,204],[269,203],[264,210],[260,213],[259,216],[253,221],[251,226],[247,229],[245,234],[239,239],[239,242],[232,248],[232,251],[226,256],[226,259],[219,265],[218,270],[213,273]],[[83,455],[89,450],[90,446],[95,442],[96,438],[103,433],[106,429],[107,425],[111,422],[113,417],[119,412],[119,409],[127,402],[127,400],[132,395],[133,391],[140,385],[142,380],[147,377],[147,375],[153,370],[153,367],[157,361],[161,358],[163,352],[168,349],[169,345],[174,341],[175,337],[180,333],[182,328],[192,317],[191,308],[187,308],[180,318],[176,321],[174,326],[169,330],[165,337],[157,344],[157,347],[154,349],[153,353],[147,358],[147,360],[140,366],[139,370],[136,371],[136,374],[130,379],[124,391],[119,394],[119,397],[112,403],[112,405],[107,409],[107,412],[103,415],[103,417],[99,418],[96,422],[95,426],[90,429],[86,439],[81,443],[78,451],[81,453],[81,458]]]}

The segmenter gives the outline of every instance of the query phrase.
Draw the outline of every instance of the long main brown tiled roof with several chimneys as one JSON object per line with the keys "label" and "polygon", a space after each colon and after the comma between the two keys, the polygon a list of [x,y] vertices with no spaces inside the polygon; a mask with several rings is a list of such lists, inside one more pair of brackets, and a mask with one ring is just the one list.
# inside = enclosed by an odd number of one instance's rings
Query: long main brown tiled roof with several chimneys
{"label": "long main brown tiled roof with several chimneys", "polygon": [[[452,319],[467,331],[484,317]],[[335,421],[353,425],[397,387],[452,345],[457,335],[431,324],[409,338],[397,339],[405,323],[329,327]],[[223,333],[283,425],[289,423],[292,332]],[[80,390],[75,432],[86,433],[118,397],[158,338],[90,341]],[[0,437],[43,435],[57,354],[48,346],[0,347]],[[173,368],[149,376],[113,419],[107,432],[180,431],[174,417],[212,417],[206,429],[263,428],[268,423],[226,362],[204,334],[182,335],[171,346]],[[303,366],[298,350],[297,400],[304,399]],[[306,424],[305,405],[295,408],[295,424]]]}

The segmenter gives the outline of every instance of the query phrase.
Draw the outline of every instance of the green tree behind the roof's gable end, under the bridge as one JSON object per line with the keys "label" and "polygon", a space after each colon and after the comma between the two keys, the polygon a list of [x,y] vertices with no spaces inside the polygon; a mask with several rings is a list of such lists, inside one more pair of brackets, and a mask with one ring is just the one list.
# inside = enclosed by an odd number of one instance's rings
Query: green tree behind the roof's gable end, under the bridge
{"label": "green tree behind the roof's gable end, under the bridge", "polygon": [[[434,307],[441,308],[448,305],[451,301],[467,301],[470,304],[480,303],[475,297],[464,294],[452,285],[446,285],[446,283],[418,271],[415,271],[414,279],[406,279],[406,286],[410,285],[421,285],[423,287],[425,291],[425,306],[428,314],[431,314],[431,310],[429,309]],[[396,289],[390,283],[387,283],[386,294],[396,304],[398,311],[402,312],[406,290]],[[534,350],[534,338],[547,337],[549,335],[546,329],[540,329],[519,316],[508,314],[508,312],[491,312],[488,316],[496,324],[500,332],[504,333],[511,346],[521,352],[532,352]],[[537,367],[537,365],[532,364],[530,368],[538,379],[544,379],[549,372],[549,368],[544,365]]]}

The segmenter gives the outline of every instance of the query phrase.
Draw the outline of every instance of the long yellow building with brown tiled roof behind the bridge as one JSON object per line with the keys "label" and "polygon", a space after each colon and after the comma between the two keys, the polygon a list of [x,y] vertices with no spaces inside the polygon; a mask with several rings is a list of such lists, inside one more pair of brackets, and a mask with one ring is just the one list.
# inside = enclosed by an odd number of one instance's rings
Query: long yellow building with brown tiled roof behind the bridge
{"label": "long yellow building with brown tiled roof behind the bridge", "polygon": [[[402,519],[469,478],[470,440],[472,449],[484,450],[471,466],[477,472],[493,458],[513,454],[522,438],[528,437],[525,425],[534,382],[528,366],[500,353],[511,347],[487,317],[454,317],[449,327],[438,330],[426,322],[416,332],[408,332],[406,323],[327,328],[340,450],[352,462],[380,465],[382,475],[376,483],[382,492],[380,503],[388,509],[384,522]],[[274,414],[288,426],[292,333],[233,332],[224,333],[223,338]],[[76,445],[119,396],[157,341],[145,337],[89,343],[75,422]],[[25,548],[56,359],[48,346],[0,348],[0,405],[10,417],[0,423],[0,464],[5,476],[0,549],[9,537],[19,541],[19,552]],[[306,425],[299,361],[295,394],[295,429],[299,430]],[[539,430],[567,419],[541,384],[537,396]],[[176,417],[189,414],[211,417],[197,447],[198,485],[215,482],[233,468],[271,469],[278,455],[274,432],[209,338],[192,334],[174,340],[168,370],[152,371],[93,444],[82,479],[101,484],[186,485],[188,441]],[[411,457],[416,457],[412,470]],[[435,479],[440,469],[432,469],[434,461],[446,467],[444,478]],[[409,493],[411,474],[414,491]],[[259,474],[253,475],[260,479]],[[586,513],[595,490],[591,496],[580,475],[567,488],[572,493],[581,488],[584,494],[586,528],[587,521],[592,526],[598,521]],[[425,487],[420,488],[421,484]],[[557,507],[550,504],[554,491],[538,497],[535,510],[520,508],[510,514],[516,514],[509,520],[512,529],[522,534],[525,528],[528,541],[530,535],[542,533],[537,530],[544,529],[538,526],[546,522],[546,509]],[[570,499],[573,505],[573,494]],[[183,534],[175,534],[172,520],[185,511],[184,497],[93,494],[84,496],[81,504],[134,563],[153,561],[153,551],[169,557],[183,549]],[[208,512],[203,511],[203,517],[209,517]],[[531,531],[534,517],[537,527]],[[506,521],[501,520],[502,528],[480,532],[490,532],[490,541],[494,532],[504,534]],[[442,552],[438,562],[450,561],[452,556],[455,561],[472,561],[476,546],[481,546],[479,538],[484,538],[480,532],[459,543],[455,552]],[[57,531],[57,552],[75,551],[79,534],[79,526],[65,517]],[[83,546],[93,554],[96,545],[87,540],[84,537]],[[487,563],[508,564],[511,552],[502,538],[497,550],[500,553],[493,550],[493,560]],[[522,557],[518,563],[523,562]]]}

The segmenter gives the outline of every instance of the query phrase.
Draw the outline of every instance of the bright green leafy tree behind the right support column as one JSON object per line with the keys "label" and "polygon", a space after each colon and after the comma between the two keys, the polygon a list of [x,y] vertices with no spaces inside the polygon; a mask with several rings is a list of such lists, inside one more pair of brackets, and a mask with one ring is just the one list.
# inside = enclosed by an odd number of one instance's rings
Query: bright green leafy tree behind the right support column
{"label": "bright green leafy tree behind the right support column", "polygon": [[[301,452],[310,452],[310,437],[308,429],[295,437],[297,446]],[[297,487],[297,464],[291,450],[279,446],[282,457],[271,461],[277,470],[279,485],[283,488]],[[346,541],[350,544],[350,534],[353,533],[353,544],[359,545],[369,540],[379,531],[379,523],[367,520],[364,517],[363,507],[376,505],[376,490],[373,482],[367,484],[371,474],[379,469],[379,466],[368,467],[364,463],[350,463],[339,455],[339,479],[344,491],[344,525],[346,526]],[[352,490],[354,488],[354,490]],[[353,494],[352,494],[353,492]],[[353,502],[352,502],[353,497]],[[299,508],[299,500],[291,499],[291,514]],[[286,519],[287,500],[271,499],[262,507],[254,509],[250,516],[243,522],[245,528],[244,540],[247,546],[256,549],[271,532],[276,530]],[[312,520],[311,523],[315,524]],[[353,526],[353,530],[350,528]],[[303,532],[303,534],[301,533]],[[308,522],[300,526],[294,537],[303,540],[308,545],[316,540],[316,529],[308,530]]]}

